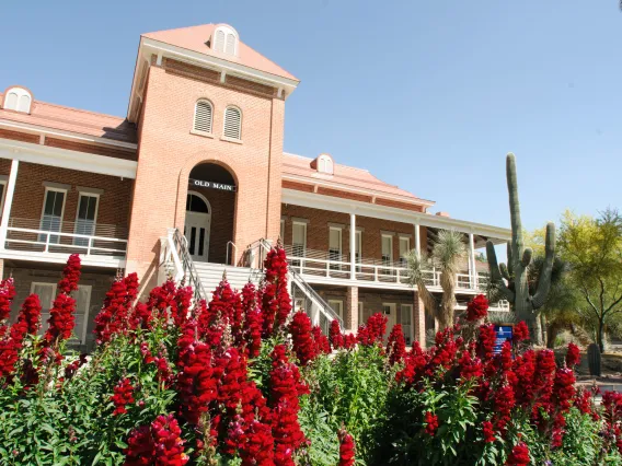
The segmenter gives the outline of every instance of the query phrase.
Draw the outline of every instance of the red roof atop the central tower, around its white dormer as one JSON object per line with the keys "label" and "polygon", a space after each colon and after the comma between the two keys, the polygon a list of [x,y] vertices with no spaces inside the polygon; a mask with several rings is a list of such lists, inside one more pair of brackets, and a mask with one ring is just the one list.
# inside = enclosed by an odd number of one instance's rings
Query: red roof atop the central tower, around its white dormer
{"label": "red roof atop the central tower, around its white dormer", "polygon": [[277,77],[299,81],[293,74],[284,70],[274,61],[268,60],[262,54],[253,50],[251,47],[240,40],[239,57],[231,56],[216,51],[207,46],[207,42],[211,37],[214,30],[218,24],[201,24],[199,26],[181,27],[178,30],[158,31],[154,33],[142,34],[142,37],[148,37],[153,40],[159,40],[164,44],[174,45],[175,47],[185,48],[187,50],[196,51],[211,57],[217,57],[222,60],[231,61],[233,63],[243,65],[255,70],[264,71]]}

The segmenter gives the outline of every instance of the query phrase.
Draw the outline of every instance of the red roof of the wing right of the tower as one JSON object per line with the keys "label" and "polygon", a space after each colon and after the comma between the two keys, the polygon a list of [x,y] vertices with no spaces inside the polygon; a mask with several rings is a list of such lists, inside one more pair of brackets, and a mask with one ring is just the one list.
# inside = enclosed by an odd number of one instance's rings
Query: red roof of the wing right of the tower
{"label": "red roof of the wing right of the tower", "polygon": [[327,184],[343,186],[344,188],[362,189],[376,193],[378,196],[387,196],[389,198],[398,197],[400,200],[413,203],[430,205],[433,201],[418,198],[412,193],[399,188],[398,186],[378,179],[371,173],[364,168],[354,166],[334,164],[334,174],[318,173],[311,167],[314,159],[285,153],[283,161],[283,175],[307,178],[306,182],[313,184],[325,182]]}

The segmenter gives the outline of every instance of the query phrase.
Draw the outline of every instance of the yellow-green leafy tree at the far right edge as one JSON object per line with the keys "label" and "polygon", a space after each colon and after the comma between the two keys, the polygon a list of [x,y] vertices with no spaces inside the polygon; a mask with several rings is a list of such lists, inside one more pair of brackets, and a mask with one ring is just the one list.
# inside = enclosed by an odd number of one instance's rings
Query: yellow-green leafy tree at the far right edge
{"label": "yellow-green leafy tree at the far right edge", "polygon": [[615,209],[596,219],[566,212],[560,248],[586,302],[580,311],[595,322],[595,340],[602,352],[604,329],[622,314],[622,217]]}

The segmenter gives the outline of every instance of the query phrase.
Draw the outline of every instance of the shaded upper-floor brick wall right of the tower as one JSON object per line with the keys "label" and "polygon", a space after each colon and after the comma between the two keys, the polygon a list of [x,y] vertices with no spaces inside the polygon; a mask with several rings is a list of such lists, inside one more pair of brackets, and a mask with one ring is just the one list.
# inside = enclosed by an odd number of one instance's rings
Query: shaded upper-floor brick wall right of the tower
{"label": "shaded upper-floor brick wall right of the tower", "polygon": [[[316,251],[329,251],[330,223],[339,223],[345,225],[345,229],[342,231],[342,252],[349,255],[350,218],[348,213],[331,212],[284,203],[281,207],[281,215],[285,218],[285,238],[283,241],[286,245],[290,245],[292,241],[292,219],[295,218],[309,220],[307,224],[307,247]],[[381,232],[395,233],[393,236],[394,260],[398,260],[400,257],[400,233],[411,235],[411,248],[415,247],[414,225],[412,224],[357,215],[356,226],[357,229],[362,229],[361,252],[364,258],[378,260],[382,258]],[[425,251],[427,245],[426,232],[426,228],[422,226],[419,240],[422,251]]]}

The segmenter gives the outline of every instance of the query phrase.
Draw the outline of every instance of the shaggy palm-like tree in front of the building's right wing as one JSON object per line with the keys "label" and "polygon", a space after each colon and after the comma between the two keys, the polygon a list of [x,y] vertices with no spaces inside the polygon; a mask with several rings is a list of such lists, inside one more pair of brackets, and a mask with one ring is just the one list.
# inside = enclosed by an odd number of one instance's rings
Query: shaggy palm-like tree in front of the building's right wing
{"label": "shaggy palm-like tree in front of the building's right wing", "polygon": [[[466,256],[464,235],[454,230],[440,230],[434,241],[431,255],[408,253],[408,278],[412,287],[417,287],[425,308],[438,322],[440,329],[453,325],[456,308],[456,273]],[[440,300],[426,287],[426,271],[431,268],[440,271]]]}

